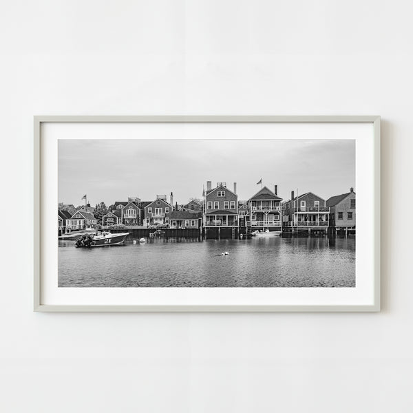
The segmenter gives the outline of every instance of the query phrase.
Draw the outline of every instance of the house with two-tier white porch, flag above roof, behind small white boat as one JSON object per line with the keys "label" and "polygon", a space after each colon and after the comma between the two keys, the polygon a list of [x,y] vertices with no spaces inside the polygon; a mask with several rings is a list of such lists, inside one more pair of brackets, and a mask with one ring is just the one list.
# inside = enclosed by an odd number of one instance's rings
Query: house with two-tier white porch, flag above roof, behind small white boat
{"label": "house with two-tier white porch, flag above roof, behind small white boat", "polygon": [[251,222],[251,228],[282,230],[282,198],[277,195],[277,185],[274,191],[263,187],[248,200],[247,220]]}

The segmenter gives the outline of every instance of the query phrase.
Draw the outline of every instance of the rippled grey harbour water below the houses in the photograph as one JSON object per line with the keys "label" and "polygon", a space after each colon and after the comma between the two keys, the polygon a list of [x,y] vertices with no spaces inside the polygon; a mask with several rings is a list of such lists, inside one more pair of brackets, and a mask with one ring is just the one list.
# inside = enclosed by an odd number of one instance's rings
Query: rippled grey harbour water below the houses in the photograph
{"label": "rippled grey harbour water below the houses in the photograph", "polygon": [[354,287],[355,240],[154,239],[90,249],[59,241],[59,286]]}

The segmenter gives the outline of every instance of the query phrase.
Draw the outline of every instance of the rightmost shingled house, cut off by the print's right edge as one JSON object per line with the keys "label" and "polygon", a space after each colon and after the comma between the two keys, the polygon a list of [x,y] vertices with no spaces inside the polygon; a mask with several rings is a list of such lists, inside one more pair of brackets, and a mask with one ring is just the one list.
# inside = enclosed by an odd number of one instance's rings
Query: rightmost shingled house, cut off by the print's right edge
{"label": "rightmost shingled house, cut off by the print's right edge", "polygon": [[330,208],[330,229],[337,232],[354,233],[356,229],[356,193],[353,188],[350,192],[335,195],[326,200],[326,207]]}

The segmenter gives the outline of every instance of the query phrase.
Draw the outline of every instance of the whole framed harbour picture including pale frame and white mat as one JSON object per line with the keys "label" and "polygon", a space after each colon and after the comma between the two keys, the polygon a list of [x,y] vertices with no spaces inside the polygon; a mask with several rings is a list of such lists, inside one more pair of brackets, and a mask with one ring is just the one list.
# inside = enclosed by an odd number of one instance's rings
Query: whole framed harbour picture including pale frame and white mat
{"label": "whole framed harbour picture including pale frame and white mat", "polygon": [[36,116],[34,310],[379,311],[379,116]]}

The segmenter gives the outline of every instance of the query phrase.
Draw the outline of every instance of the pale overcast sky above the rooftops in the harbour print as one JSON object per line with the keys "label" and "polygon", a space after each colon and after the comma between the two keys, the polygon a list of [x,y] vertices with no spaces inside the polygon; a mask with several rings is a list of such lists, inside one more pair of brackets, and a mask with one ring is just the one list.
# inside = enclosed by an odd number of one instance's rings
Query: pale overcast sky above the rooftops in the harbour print
{"label": "pale overcast sky above the rooftops in the harbour print", "polygon": [[211,180],[237,182],[240,200],[257,182],[327,199],[355,188],[354,140],[59,140],[59,202],[94,206],[173,191],[174,203],[202,197]]}

